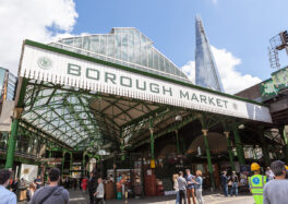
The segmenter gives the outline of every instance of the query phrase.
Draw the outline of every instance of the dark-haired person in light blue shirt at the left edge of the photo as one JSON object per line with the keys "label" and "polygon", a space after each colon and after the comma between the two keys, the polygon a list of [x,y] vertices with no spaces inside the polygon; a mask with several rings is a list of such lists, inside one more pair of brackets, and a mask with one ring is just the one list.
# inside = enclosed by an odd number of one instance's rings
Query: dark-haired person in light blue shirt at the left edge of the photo
{"label": "dark-haired person in light blue shirt at the left edge of the photo", "polygon": [[11,171],[7,169],[0,170],[0,203],[1,204],[17,203],[15,193],[7,190],[7,187],[9,185],[10,177],[11,177]]}

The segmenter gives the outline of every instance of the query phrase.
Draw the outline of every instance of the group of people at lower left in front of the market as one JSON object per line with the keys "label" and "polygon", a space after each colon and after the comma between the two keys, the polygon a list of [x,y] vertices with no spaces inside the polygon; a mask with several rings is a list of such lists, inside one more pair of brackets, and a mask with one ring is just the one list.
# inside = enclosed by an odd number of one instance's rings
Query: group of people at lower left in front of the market
{"label": "group of people at lower left in front of the market", "polygon": [[[74,181],[74,182],[73,182]],[[65,188],[70,188],[70,184],[75,184],[76,180],[70,182],[69,179],[61,180],[60,170],[58,168],[51,168],[48,173],[48,183],[43,183],[43,179],[38,176],[33,182],[29,183],[28,188],[25,188],[26,200],[29,204],[68,204],[69,192]],[[93,173],[89,178],[83,178],[79,180],[79,184],[84,192],[89,193],[91,204],[104,204],[105,189],[103,179],[94,177]],[[17,190],[21,190],[23,185],[26,187],[26,181],[21,179],[19,183],[17,179],[11,178],[11,171],[7,169],[0,170],[0,203],[2,204],[16,204]],[[63,187],[64,185],[64,187]],[[3,197],[3,199],[2,199]]]}

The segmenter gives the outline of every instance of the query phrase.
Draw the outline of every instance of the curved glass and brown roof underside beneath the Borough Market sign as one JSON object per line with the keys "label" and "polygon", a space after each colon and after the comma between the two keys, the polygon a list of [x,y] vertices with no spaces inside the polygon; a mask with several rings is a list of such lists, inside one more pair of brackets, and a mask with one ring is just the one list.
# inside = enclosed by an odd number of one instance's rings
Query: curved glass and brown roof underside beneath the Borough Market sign
{"label": "curved glass and brown roof underside beneath the Borough Market sign", "polygon": [[128,143],[148,129],[151,112],[167,110],[166,105],[35,80],[28,81],[24,104],[23,124],[79,151]]}

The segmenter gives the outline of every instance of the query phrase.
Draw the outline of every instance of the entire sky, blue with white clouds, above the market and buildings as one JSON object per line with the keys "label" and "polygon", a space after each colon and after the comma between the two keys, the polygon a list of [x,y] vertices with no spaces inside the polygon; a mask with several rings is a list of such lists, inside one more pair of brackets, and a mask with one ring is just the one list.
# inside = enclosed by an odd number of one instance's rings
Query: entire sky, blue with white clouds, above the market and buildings
{"label": "entire sky, blue with white clouds, above the market and buildings", "polygon": [[[10,0],[0,1],[0,67],[17,72],[28,38],[50,43],[82,33],[136,27],[193,81],[201,14],[227,93],[266,80],[271,37],[288,28],[287,0]],[[285,51],[281,67],[288,64]]]}

